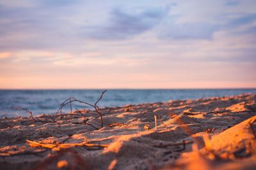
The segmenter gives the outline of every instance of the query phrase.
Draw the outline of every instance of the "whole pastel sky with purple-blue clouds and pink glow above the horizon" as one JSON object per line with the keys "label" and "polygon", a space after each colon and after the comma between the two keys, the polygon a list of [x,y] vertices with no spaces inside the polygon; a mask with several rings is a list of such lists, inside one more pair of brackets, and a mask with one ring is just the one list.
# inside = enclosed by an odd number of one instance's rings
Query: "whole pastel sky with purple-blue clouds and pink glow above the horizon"
{"label": "whole pastel sky with purple-blue clouds and pink glow above the horizon", "polygon": [[255,0],[0,0],[0,89],[256,88],[255,73]]}

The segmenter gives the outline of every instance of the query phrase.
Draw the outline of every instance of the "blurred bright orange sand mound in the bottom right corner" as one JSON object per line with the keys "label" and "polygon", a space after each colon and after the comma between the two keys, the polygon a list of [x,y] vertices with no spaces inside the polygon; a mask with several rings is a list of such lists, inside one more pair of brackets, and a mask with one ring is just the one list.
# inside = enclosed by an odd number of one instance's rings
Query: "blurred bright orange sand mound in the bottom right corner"
{"label": "blurred bright orange sand mound in the bottom right corner", "polygon": [[202,150],[195,146],[192,152],[183,153],[177,162],[164,169],[255,169],[255,132],[253,116],[211,139],[205,136]]}

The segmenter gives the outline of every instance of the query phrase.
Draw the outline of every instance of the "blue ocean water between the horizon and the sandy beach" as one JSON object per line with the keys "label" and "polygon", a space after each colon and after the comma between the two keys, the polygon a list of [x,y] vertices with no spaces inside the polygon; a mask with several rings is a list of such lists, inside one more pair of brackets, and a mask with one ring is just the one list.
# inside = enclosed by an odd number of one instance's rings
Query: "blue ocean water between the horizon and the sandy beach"
{"label": "blue ocean water between the horizon and the sandy beach", "polygon": [[[56,113],[60,104],[69,97],[76,97],[87,103],[95,103],[102,90],[0,90],[0,117],[28,116],[22,110],[28,108],[33,115]],[[256,89],[202,89],[202,90],[108,90],[99,102],[99,106],[124,106],[164,102],[170,99],[198,99],[202,97],[233,96],[244,93],[256,93]],[[90,108],[84,104],[72,103],[73,108]],[[67,106],[63,110],[69,111]]]}

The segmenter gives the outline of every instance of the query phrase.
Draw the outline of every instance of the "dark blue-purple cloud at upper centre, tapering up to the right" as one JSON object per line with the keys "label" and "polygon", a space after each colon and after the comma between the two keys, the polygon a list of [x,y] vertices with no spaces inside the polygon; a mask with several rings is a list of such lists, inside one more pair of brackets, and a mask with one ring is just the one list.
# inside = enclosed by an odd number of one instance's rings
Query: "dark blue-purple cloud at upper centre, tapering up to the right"
{"label": "dark blue-purple cloud at upper centre, tapering up to the right", "polygon": [[86,27],[84,36],[100,40],[128,39],[152,29],[168,13],[168,8],[151,8],[141,11],[124,11],[115,8],[108,24]]}

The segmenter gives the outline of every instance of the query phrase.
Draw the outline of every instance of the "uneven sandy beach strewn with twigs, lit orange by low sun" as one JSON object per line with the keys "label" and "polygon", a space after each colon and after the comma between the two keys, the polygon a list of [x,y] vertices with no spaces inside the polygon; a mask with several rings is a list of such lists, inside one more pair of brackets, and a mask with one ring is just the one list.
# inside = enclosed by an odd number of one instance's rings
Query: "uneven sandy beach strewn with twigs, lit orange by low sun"
{"label": "uneven sandy beach strewn with twigs, lit orange by low sun", "polygon": [[[0,169],[255,169],[256,94],[0,119]],[[68,107],[68,106],[67,106]]]}

